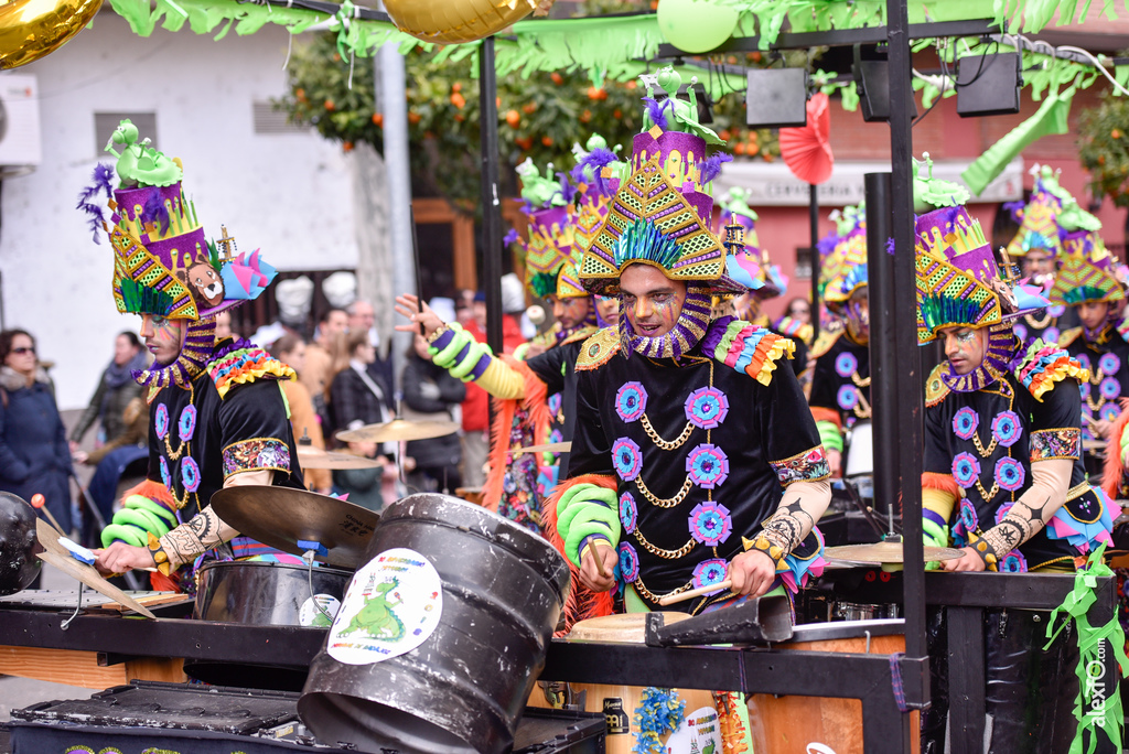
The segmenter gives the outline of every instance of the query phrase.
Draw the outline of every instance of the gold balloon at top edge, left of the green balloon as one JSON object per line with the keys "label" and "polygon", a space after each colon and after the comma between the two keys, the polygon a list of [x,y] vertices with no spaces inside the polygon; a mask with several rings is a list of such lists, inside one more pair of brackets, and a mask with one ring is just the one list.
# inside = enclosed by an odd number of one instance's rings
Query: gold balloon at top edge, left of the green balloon
{"label": "gold balloon at top edge, left of the green balloon", "polygon": [[490,36],[545,5],[537,0],[385,0],[384,8],[401,32],[425,42],[456,44]]}

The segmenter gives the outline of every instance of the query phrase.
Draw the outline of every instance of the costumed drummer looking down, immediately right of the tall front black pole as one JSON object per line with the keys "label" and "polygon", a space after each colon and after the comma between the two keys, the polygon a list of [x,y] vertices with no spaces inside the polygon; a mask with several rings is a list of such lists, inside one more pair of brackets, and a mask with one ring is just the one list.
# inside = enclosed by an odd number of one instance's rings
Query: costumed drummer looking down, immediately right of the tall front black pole
{"label": "costumed drummer looking down, immediately right of the tall front black pole", "polygon": [[[1047,305],[1017,279],[1000,275],[960,204],[918,218],[918,343],[939,339],[947,357],[926,384],[922,528],[927,545],[962,547],[942,563],[948,571],[1074,571],[1075,558],[1110,542],[1119,512],[1080,462],[1086,368],[1057,345],[1016,337],[1013,322]],[[984,751],[1069,749],[1077,646],[1067,632],[1044,650],[1048,622],[1034,611],[986,613]],[[945,751],[945,631],[944,614],[931,614],[922,751]]]}

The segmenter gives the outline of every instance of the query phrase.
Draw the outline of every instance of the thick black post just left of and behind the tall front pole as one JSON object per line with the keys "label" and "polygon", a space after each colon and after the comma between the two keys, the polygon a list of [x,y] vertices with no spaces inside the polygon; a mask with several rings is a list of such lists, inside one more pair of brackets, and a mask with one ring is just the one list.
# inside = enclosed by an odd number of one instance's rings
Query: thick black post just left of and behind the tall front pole
{"label": "thick black post just left of and behind the tall front pole", "polygon": [[889,516],[898,499],[898,349],[894,348],[894,257],[890,238],[890,174],[867,173],[866,264],[870,301],[870,405],[874,499]]}

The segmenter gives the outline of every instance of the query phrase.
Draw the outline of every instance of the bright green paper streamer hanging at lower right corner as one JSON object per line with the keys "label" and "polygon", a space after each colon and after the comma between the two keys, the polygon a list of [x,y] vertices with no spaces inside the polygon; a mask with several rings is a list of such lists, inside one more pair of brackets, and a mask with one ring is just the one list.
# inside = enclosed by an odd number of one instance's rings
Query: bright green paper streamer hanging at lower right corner
{"label": "bright green paper streamer hanging at lower right corner", "polygon": [[[1124,676],[1124,670],[1129,669],[1129,657],[1124,652],[1126,634],[1118,622],[1117,612],[1114,611],[1113,617],[1105,625],[1101,626],[1092,626],[1086,616],[1089,607],[1097,599],[1094,596],[1094,587],[1097,584],[1097,579],[1114,576],[1109,566],[1102,562],[1102,554],[1104,552],[1105,543],[1103,542],[1089,554],[1086,567],[1075,575],[1074,590],[1067,595],[1066,600],[1061,605],[1051,612],[1051,620],[1047,625],[1048,640],[1043,649],[1051,646],[1071,620],[1078,628],[1080,659],[1078,660],[1077,675],[1079,692],[1074,700],[1074,716],[1078,719],[1078,729],[1075,733],[1074,740],[1070,743],[1070,754],[1083,754],[1084,748],[1087,754],[1093,754],[1097,748],[1097,728],[1105,731],[1105,735],[1110,737],[1117,751],[1121,751],[1122,728],[1124,726],[1124,714],[1121,711],[1121,695],[1114,689],[1113,693],[1105,694],[1101,703],[1097,703],[1093,693],[1096,689],[1091,687],[1093,681],[1102,677],[1101,674],[1096,676],[1091,675],[1089,669],[1094,664],[1101,666],[1104,672],[1102,655],[1105,648],[1102,642],[1109,642],[1112,647],[1114,659],[1123,668],[1122,677]],[[1062,623],[1056,628],[1054,622],[1060,613],[1062,613]],[[1089,710],[1088,712],[1083,713],[1084,705]],[[1089,731],[1088,746],[1085,744],[1085,734],[1087,730]]]}

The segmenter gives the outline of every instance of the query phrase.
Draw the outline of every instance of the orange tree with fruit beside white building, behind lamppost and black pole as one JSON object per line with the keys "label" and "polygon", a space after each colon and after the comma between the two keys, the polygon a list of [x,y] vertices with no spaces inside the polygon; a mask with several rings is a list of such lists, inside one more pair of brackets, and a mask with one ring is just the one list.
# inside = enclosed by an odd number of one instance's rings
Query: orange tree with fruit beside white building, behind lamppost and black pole
{"label": "orange tree with fruit beside white building, behind lamppost and black pole", "polygon": [[[473,211],[480,181],[474,63],[470,55],[437,62],[436,54],[417,49],[405,60],[412,190]],[[752,53],[743,62],[759,64],[759,53]],[[357,59],[350,73],[350,61],[338,53],[335,36],[326,34],[296,45],[288,70],[289,91],[274,104],[291,122],[314,126],[347,151],[368,142],[383,154],[383,120],[375,109],[370,60]],[[702,71],[700,78],[706,77]],[[499,151],[506,193],[516,195],[513,168],[526,157],[542,169],[552,163],[567,172],[575,164],[572,144],[585,143],[593,133],[602,134],[609,144],[622,144],[621,154],[630,154],[631,138],[641,123],[644,94],[636,81],[607,80],[595,87],[583,71],[499,79]],[[774,132],[750,131],[744,128],[744,115],[742,93],[729,93],[714,105],[712,128],[738,158],[777,157]]]}

